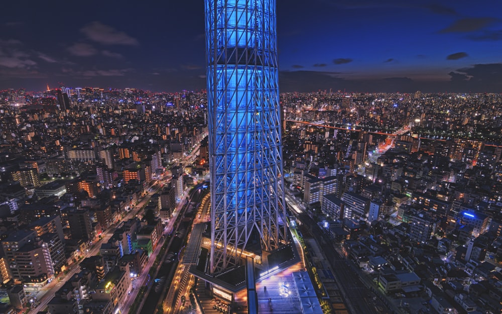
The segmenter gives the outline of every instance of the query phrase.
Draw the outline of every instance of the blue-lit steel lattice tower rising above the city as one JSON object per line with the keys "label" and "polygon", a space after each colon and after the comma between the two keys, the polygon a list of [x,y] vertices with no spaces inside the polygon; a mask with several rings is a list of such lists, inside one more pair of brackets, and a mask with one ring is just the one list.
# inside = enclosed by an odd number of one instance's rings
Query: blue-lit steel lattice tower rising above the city
{"label": "blue-lit steel lattice tower rising above the city", "polygon": [[[287,243],[275,0],[206,0],[210,272]],[[249,255],[247,255],[249,256]]]}

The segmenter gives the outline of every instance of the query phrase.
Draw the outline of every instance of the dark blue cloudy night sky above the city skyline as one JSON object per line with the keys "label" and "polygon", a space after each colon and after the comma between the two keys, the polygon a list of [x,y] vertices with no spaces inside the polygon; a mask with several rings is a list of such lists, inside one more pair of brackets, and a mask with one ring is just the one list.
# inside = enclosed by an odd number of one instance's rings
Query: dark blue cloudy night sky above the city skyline
{"label": "dark blue cloudy night sky above the city skyline", "polygon": [[[205,88],[204,3],[5,1],[0,89]],[[502,2],[277,0],[281,91],[502,92]]]}

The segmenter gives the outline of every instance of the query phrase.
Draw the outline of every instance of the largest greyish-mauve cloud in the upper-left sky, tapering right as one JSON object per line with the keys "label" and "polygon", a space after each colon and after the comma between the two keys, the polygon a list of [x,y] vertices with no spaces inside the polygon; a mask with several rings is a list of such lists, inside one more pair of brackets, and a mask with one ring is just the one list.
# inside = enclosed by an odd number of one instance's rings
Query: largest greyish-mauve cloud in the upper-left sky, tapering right
{"label": "largest greyish-mauve cloud in the upper-left sky, tapering right", "polygon": [[100,22],[91,22],[80,30],[88,39],[104,45],[138,45],[138,40]]}

